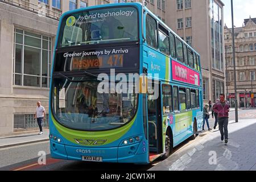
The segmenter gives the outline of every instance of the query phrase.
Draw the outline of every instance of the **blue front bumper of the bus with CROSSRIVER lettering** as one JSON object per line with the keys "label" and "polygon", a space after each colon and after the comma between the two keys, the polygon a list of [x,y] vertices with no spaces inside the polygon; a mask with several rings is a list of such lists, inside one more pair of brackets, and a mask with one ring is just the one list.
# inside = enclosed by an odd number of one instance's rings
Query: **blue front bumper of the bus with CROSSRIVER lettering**
{"label": "blue front bumper of the bus with CROSSRIVER lettering", "polygon": [[96,148],[68,146],[50,140],[51,157],[55,159],[82,160],[82,156],[99,156],[106,163],[148,163],[148,156],[143,143],[127,146]]}

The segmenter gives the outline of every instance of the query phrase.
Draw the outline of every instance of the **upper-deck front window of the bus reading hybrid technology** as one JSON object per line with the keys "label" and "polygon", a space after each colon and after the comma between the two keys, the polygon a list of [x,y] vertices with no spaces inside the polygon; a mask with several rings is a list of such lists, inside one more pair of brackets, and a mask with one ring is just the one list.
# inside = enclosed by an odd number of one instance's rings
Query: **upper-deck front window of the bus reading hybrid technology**
{"label": "upper-deck front window of the bus reading hybrid technology", "polygon": [[[154,26],[146,23],[147,28]],[[58,46],[137,41],[137,24],[138,14],[133,7],[82,11],[64,18]]]}

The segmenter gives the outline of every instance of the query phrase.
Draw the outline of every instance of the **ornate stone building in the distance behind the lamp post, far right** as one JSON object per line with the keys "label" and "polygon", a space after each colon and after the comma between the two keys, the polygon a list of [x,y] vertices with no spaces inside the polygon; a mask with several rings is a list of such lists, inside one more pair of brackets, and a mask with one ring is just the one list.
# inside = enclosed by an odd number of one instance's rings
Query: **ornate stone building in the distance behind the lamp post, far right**
{"label": "ornate stone building in the distance behind the lamp post, far right", "polygon": [[[232,28],[225,26],[226,93],[234,107],[234,68]],[[238,107],[256,107],[256,18],[245,19],[242,27],[234,28]]]}

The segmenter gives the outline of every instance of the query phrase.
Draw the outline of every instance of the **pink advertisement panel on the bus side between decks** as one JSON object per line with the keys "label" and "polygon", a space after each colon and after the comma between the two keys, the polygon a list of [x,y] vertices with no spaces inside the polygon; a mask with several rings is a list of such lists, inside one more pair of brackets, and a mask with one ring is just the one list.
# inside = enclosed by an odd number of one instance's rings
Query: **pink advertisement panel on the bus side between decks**
{"label": "pink advertisement panel on the bus side between decks", "polygon": [[172,79],[200,86],[200,75],[184,65],[172,60]]}

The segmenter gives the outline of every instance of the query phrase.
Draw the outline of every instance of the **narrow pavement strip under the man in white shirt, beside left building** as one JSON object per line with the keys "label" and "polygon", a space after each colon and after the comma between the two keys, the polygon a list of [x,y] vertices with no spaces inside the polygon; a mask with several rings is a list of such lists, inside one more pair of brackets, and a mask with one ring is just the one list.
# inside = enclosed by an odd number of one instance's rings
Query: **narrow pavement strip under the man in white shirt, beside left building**
{"label": "narrow pavement strip under the man in white shirt, beside left building", "polygon": [[22,144],[30,144],[44,142],[49,140],[49,130],[44,130],[43,135],[38,135],[39,132],[32,134],[14,135],[0,138],[0,148],[19,146]]}

